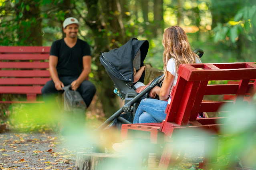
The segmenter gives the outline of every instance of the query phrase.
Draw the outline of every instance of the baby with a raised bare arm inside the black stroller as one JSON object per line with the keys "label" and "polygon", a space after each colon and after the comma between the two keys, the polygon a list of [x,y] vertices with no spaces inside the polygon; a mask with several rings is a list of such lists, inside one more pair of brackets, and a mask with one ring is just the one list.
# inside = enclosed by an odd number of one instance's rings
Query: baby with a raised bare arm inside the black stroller
{"label": "baby with a raised bare arm inside the black stroller", "polygon": [[[147,85],[145,85],[144,83],[139,81],[143,71],[145,70],[145,67],[146,66],[140,67],[138,71],[136,71],[135,67],[133,67],[133,71],[134,71],[133,77],[134,77],[134,82],[135,82],[134,87],[136,88],[135,91],[137,93],[141,93],[141,91],[143,91],[145,88],[147,88],[153,81],[153,80],[150,81]],[[149,96],[152,97],[153,99],[155,99],[156,95],[159,96],[160,90],[161,90],[161,88],[159,86],[155,86],[149,92]]]}

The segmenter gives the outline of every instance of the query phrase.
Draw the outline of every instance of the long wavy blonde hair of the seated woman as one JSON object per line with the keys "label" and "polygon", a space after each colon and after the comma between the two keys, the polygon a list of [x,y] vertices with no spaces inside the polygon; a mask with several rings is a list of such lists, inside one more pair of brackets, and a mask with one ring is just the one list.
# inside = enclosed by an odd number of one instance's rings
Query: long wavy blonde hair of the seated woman
{"label": "long wavy blonde hair of the seated woman", "polygon": [[[196,63],[196,55],[187,40],[185,31],[179,26],[171,26],[163,33],[163,73],[164,79],[167,76],[167,62],[170,58],[175,61],[176,72],[178,71],[179,64],[181,63]],[[200,59],[199,59],[200,60]]]}

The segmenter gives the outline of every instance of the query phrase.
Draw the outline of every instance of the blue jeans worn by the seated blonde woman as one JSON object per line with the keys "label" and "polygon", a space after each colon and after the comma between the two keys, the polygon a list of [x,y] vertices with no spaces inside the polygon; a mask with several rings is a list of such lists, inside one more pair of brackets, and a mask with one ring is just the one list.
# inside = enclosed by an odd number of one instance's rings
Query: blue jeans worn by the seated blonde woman
{"label": "blue jeans worn by the seated blonde woman", "polygon": [[167,101],[157,99],[143,99],[135,113],[133,123],[158,123],[165,117]]}

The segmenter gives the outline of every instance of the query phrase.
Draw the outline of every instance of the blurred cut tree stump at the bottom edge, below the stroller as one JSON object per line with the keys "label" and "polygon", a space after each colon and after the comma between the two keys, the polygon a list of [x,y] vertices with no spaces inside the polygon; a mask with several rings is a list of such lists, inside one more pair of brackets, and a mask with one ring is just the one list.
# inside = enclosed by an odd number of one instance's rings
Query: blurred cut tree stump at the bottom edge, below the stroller
{"label": "blurred cut tree stump at the bottom edge, below the stroller", "polygon": [[75,170],[107,170],[122,159],[118,154],[77,153]]}

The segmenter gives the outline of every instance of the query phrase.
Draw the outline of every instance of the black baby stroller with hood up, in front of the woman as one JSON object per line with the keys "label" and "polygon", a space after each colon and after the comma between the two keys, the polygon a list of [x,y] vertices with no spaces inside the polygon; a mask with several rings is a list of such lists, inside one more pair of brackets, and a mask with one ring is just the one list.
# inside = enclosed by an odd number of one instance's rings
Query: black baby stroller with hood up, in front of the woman
{"label": "black baby stroller with hood up, in front of the woman", "polygon": [[[107,121],[105,121],[97,130],[103,130],[115,119],[115,121],[119,122],[119,127],[117,128],[120,129],[121,124],[133,123],[133,116],[139,102],[142,99],[147,98],[148,93],[153,87],[159,85],[159,80],[162,76],[155,78],[141,93],[135,92],[136,88],[133,85],[133,67],[138,70],[143,66],[143,61],[147,55],[148,48],[149,42],[147,40],[140,41],[137,40],[137,38],[131,38],[131,40],[121,47],[112,49],[109,52],[101,53],[100,61],[105,67],[109,77],[111,77],[112,81],[115,83],[117,94],[125,100],[125,105],[109,117],[109,119],[107,119]],[[199,57],[202,57],[204,54],[202,49],[195,49],[194,52],[198,53]],[[143,83],[144,77],[145,72],[143,72],[139,81]],[[123,112],[127,115],[126,119],[121,115]]]}

